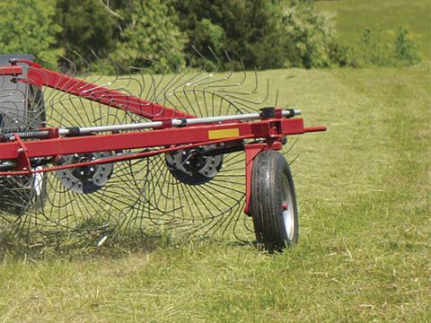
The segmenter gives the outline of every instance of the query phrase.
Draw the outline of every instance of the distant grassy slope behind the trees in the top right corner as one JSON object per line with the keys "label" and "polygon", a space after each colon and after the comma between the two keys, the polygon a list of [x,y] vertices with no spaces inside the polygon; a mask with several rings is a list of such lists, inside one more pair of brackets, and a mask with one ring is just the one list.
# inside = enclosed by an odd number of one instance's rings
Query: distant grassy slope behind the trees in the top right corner
{"label": "distant grassy slope behind the trees in the top right corner", "polygon": [[395,39],[400,26],[418,41],[423,58],[431,59],[431,1],[428,0],[339,0],[317,1],[320,11],[336,14],[339,39],[355,45],[365,29],[382,32],[383,38]]}

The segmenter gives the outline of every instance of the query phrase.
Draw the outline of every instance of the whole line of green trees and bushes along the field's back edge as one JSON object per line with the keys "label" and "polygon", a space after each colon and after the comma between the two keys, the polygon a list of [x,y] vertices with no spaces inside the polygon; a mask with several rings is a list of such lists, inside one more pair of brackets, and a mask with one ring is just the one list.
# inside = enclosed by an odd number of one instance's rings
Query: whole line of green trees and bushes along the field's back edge
{"label": "whole line of green trees and bushes along the field's back edge", "polygon": [[370,30],[355,48],[340,45],[330,15],[307,0],[17,0],[0,3],[0,30],[2,53],[54,65],[84,57],[78,69],[108,73],[110,62],[162,72],[202,57],[258,69],[420,61],[402,28],[387,46]]}

